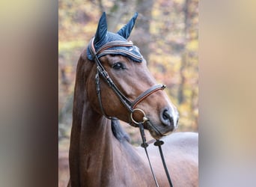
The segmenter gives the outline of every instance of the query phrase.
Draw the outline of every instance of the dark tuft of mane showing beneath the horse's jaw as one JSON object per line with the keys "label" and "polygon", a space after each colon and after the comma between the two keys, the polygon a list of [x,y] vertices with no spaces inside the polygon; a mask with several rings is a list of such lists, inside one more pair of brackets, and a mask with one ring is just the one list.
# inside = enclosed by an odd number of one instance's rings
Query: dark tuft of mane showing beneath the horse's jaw
{"label": "dark tuft of mane showing beneath the horse's jaw", "polygon": [[121,126],[119,120],[111,120],[111,128],[112,128],[113,135],[115,136],[115,138],[118,139],[118,141],[130,142],[130,137]]}

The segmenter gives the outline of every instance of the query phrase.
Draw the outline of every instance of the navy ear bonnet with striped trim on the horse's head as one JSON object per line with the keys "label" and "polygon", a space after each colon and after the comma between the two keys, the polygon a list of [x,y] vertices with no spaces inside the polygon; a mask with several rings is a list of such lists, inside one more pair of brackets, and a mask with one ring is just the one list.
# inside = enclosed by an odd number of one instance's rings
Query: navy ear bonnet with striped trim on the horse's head
{"label": "navy ear bonnet with striped trim on the horse's head", "polygon": [[[117,33],[112,33],[108,31],[108,25],[106,22],[106,13],[100,17],[98,23],[97,31],[95,36],[92,38],[95,55],[97,58],[103,55],[123,55],[130,58],[132,61],[141,62],[143,57],[139,52],[137,46],[134,46],[132,42],[128,42],[127,38],[135,25],[135,20],[137,19],[138,13],[132,16],[127,25],[124,25]],[[88,47],[87,56],[89,60],[94,60],[94,54]]]}

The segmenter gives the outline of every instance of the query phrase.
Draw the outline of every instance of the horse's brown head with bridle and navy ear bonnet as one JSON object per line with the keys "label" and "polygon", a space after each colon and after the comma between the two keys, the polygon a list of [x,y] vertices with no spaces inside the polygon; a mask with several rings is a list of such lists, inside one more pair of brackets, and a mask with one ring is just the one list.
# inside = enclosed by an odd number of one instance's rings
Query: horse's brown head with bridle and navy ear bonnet
{"label": "horse's brown head with bridle and navy ear bonnet", "polygon": [[99,114],[132,126],[141,122],[159,139],[177,127],[178,112],[162,91],[165,86],[156,85],[138,47],[127,41],[137,16],[135,13],[127,25],[112,33],[103,13],[86,52],[94,64],[86,89],[92,108]]}

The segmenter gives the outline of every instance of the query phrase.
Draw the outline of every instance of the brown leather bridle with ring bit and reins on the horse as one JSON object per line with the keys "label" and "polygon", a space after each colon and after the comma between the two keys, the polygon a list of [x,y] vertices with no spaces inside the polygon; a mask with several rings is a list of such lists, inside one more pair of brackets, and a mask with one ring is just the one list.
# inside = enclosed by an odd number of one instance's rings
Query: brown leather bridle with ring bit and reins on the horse
{"label": "brown leather bridle with ring bit and reins on the horse", "polygon": [[[116,117],[110,117],[104,111],[103,104],[102,104],[102,101],[101,101],[101,95],[100,95],[100,76],[101,76],[108,83],[109,87],[112,88],[112,90],[115,92],[115,94],[121,100],[121,102],[124,104],[124,106],[127,108],[127,110],[130,112],[130,118],[131,118],[132,122],[138,125],[138,127],[140,129],[140,133],[141,133],[141,139],[142,139],[141,147],[144,148],[145,153],[147,155],[147,160],[148,160],[149,165],[150,165],[150,170],[151,170],[151,173],[153,175],[153,180],[155,181],[156,186],[159,187],[159,185],[157,183],[157,180],[156,180],[156,176],[153,172],[153,168],[152,168],[151,163],[150,163],[149,156],[147,154],[148,144],[146,142],[146,138],[145,138],[145,135],[144,135],[144,126],[143,126],[143,124],[148,123],[149,119],[146,117],[146,114],[144,113],[143,110],[141,110],[140,108],[135,108],[135,106],[138,105],[138,103],[141,102],[143,99],[145,99],[147,96],[150,96],[150,94],[152,94],[156,91],[159,91],[159,90],[164,90],[165,85],[162,85],[162,84],[153,85],[151,88],[147,89],[147,91],[144,91],[143,93],[141,93],[133,102],[130,101],[127,98],[127,96],[124,96],[124,94],[121,93],[121,91],[119,91],[118,87],[115,85],[113,80],[109,77],[109,74],[106,72],[105,68],[103,67],[99,58],[97,57],[97,55],[99,55],[99,54],[105,54],[105,55],[112,54],[111,52],[113,52],[115,50],[107,50],[107,49],[112,48],[112,47],[116,47],[116,46],[133,46],[133,43],[132,42],[124,42],[124,41],[113,41],[113,42],[109,42],[109,43],[106,43],[105,45],[103,45],[97,52],[94,49],[94,37],[91,39],[91,41],[89,43],[89,49],[90,49],[91,55],[93,56],[93,59],[97,64],[97,73],[96,73],[96,76],[95,76],[95,85],[96,85],[96,91],[97,91],[97,98],[98,98],[98,101],[99,101],[99,104],[100,104],[100,110],[101,110],[102,114],[105,117],[107,117],[108,119],[117,120]],[[122,51],[122,52],[125,52],[125,51]],[[129,53],[129,55],[131,55],[131,54]],[[132,114],[135,111],[141,111],[141,113],[144,115],[143,120],[141,122],[137,122],[133,119]],[[150,126],[153,126],[153,124],[150,124]],[[154,126],[153,126],[153,128],[156,129],[156,127],[154,127]],[[155,146],[159,147],[159,153],[161,155],[162,165],[165,168],[165,174],[168,178],[168,183],[171,187],[173,187],[173,185],[171,183],[171,177],[169,176],[168,169],[165,165],[165,159],[164,159],[164,156],[163,156],[163,153],[162,153],[162,147],[161,147],[162,144],[164,144],[164,142],[159,141],[159,140],[156,140],[156,142],[154,143]]]}

